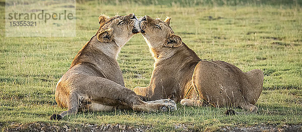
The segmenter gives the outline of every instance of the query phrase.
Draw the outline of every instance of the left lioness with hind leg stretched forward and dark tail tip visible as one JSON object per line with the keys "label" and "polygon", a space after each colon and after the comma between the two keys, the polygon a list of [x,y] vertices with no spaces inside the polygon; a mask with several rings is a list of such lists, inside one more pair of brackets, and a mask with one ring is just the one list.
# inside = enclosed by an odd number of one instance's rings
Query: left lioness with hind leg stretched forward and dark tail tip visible
{"label": "left lioness with hind leg stretched forward and dark tail tip visible", "polygon": [[53,114],[51,119],[80,110],[109,111],[114,108],[139,111],[175,110],[172,100],[144,102],[124,85],[122,72],[117,63],[121,47],[139,29],[134,14],[109,18],[100,16],[100,28],[74,57],[69,70],[56,85],[55,100],[67,111]]}

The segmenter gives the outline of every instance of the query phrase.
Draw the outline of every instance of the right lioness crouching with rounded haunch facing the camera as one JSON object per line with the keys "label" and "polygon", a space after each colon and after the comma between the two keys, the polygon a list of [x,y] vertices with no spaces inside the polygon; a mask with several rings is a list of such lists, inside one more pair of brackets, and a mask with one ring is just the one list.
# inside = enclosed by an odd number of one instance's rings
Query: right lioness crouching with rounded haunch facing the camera
{"label": "right lioness crouching with rounded haunch facing the camera", "polygon": [[201,60],[165,21],[145,16],[141,34],[155,59],[150,84],[135,87],[145,100],[170,98],[182,105],[240,106],[256,112],[263,85],[263,72],[243,72],[223,61]]}

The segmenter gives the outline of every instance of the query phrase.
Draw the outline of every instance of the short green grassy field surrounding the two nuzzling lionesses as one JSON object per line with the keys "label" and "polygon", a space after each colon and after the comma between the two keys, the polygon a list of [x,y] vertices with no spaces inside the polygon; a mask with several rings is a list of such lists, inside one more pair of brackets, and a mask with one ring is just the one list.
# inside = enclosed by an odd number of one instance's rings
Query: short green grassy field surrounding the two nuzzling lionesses
{"label": "short green grassy field surrounding the two nuzzling lionesses", "polygon": [[[1,2],[0,127],[11,122],[149,125],[152,131],[216,130],[225,126],[302,124],[301,1],[131,1],[77,3],[77,37],[5,37]],[[59,113],[55,85],[73,57],[97,32],[101,14],[172,18],[171,27],[201,59],[223,60],[243,71],[264,71],[257,114],[225,116],[226,108],[184,107],[165,113],[85,112],[51,121]],[[126,87],[147,86],[154,60],[137,34],[118,58]],[[236,109],[242,111],[242,109]],[[4,129],[3,129],[4,130]]]}

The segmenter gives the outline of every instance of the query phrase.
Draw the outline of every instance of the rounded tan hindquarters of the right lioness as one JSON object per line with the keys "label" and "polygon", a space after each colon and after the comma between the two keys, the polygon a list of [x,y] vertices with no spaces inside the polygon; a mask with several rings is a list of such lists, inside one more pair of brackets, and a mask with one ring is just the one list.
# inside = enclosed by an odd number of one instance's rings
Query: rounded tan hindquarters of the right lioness
{"label": "rounded tan hindquarters of the right lioness", "polygon": [[244,73],[223,61],[200,61],[194,69],[192,82],[199,96],[214,106],[255,104],[262,91],[262,81],[252,80],[248,74],[252,73]]}

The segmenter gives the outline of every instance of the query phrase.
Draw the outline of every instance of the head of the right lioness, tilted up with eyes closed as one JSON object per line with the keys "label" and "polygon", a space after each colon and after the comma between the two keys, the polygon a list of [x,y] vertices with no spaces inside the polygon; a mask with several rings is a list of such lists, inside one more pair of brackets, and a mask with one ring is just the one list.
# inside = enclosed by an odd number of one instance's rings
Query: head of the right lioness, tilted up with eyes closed
{"label": "head of the right lioness, tilted up with eyes closed", "polygon": [[169,17],[162,21],[149,16],[140,19],[140,32],[149,48],[163,50],[165,47],[169,49],[181,46],[182,40],[174,34],[170,20]]}

